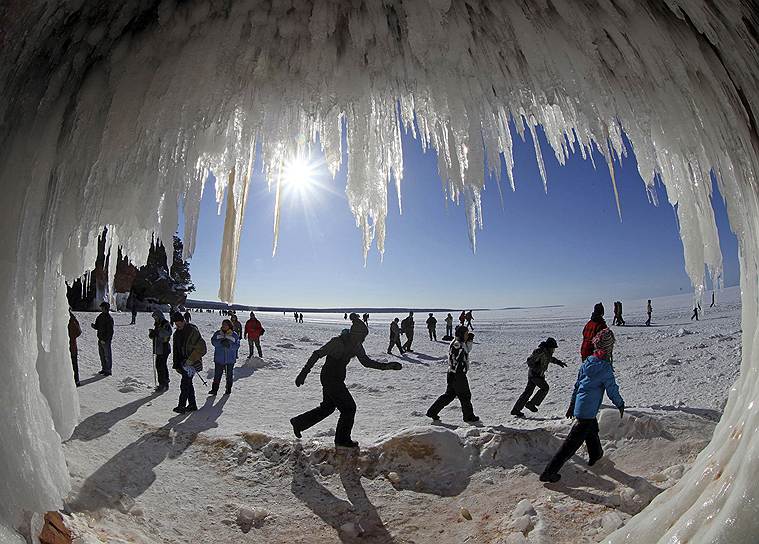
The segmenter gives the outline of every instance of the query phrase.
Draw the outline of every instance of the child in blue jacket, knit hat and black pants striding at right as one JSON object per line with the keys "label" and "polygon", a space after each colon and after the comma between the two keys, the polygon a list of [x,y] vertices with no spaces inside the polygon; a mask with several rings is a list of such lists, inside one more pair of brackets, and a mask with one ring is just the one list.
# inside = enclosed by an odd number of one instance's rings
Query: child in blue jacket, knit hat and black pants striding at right
{"label": "child in blue jacket, knit hat and black pants striding at right", "polygon": [[598,410],[604,391],[619,409],[619,417],[625,413],[625,401],[619,394],[619,387],[614,379],[612,353],[614,350],[614,333],[603,329],[593,338],[595,351],[580,366],[577,374],[572,402],[567,410],[568,418],[577,421],[569,431],[564,443],[540,475],[541,482],[558,482],[559,470],[580,449],[583,442],[588,448],[588,465],[593,466],[603,457],[601,439],[598,437]]}

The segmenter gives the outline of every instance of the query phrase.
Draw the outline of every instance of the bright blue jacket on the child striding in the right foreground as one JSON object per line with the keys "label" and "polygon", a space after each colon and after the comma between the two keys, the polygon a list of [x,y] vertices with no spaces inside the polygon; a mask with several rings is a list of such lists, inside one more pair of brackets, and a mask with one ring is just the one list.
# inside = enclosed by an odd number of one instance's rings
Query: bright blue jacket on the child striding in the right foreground
{"label": "bright blue jacket on the child striding in the right foreground", "polygon": [[609,361],[591,355],[580,365],[570,411],[578,419],[593,419],[598,415],[604,391],[614,406],[624,407],[625,401],[614,379],[614,367]]}

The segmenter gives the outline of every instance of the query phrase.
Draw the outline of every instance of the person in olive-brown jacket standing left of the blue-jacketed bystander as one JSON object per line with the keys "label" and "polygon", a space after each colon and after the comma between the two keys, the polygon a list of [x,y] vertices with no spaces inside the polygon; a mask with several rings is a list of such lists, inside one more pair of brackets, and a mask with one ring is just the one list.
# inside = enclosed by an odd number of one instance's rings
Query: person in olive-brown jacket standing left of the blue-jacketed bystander
{"label": "person in olive-brown jacket standing left of the blue-jacketed bystander", "polygon": [[197,372],[203,370],[206,343],[200,336],[198,328],[192,323],[187,323],[184,316],[179,312],[175,312],[171,320],[176,326],[176,331],[174,331],[174,365],[172,368],[182,376],[182,381],[179,383],[179,403],[174,411],[178,414],[184,414],[198,409],[192,379]]}

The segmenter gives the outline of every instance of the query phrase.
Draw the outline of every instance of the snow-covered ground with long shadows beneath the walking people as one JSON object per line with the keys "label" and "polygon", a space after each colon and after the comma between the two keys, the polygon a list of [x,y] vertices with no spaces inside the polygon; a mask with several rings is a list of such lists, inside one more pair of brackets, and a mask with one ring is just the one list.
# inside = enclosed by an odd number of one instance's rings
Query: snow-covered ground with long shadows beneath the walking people
{"label": "snow-covered ground with long shadows beneath the walking people", "polygon": [[[95,315],[79,314],[82,419],[65,445],[71,524],[81,542],[597,541],[680,477],[708,442],[740,364],[736,288],[718,293],[713,309],[707,302],[699,322],[689,319],[687,295],[654,299],[651,327],[643,326],[643,301],[623,302],[615,369],[629,416],[620,423],[616,411],[602,412],[608,460],[589,469],[575,458],[549,486],[537,474],[571,425],[563,414],[592,304],[475,313],[469,377],[478,427],[462,423],[457,402],[441,424],[424,417],[445,388],[447,345],[431,342],[426,315],[417,315],[415,352],[392,357],[402,371],[348,367],[358,455],[331,447],[336,415],[301,442],[288,421],[318,404],[320,366],[304,387],[295,376],[346,326],[342,314],[306,314],[303,324],[259,314],[263,360],[246,362],[247,346],[241,350],[228,398],[206,398],[196,379],[201,409],[182,416],[171,411],[173,371],[169,392],[152,394],[147,314],[137,325],[114,314],[114,373],[105,379],[95,376]],[[377,360],[391,359],[392,317],[371,316],[365,345]],[[610,301],[606,317],[611,322]],[[218,314],[193,319],[206,339],[221,322]],[[439,324],[438,337],[443,332]],[[549,335],[569,367],[552,366],[540,412],[516,420],[509,411],[526,381],[524,361]]]}

